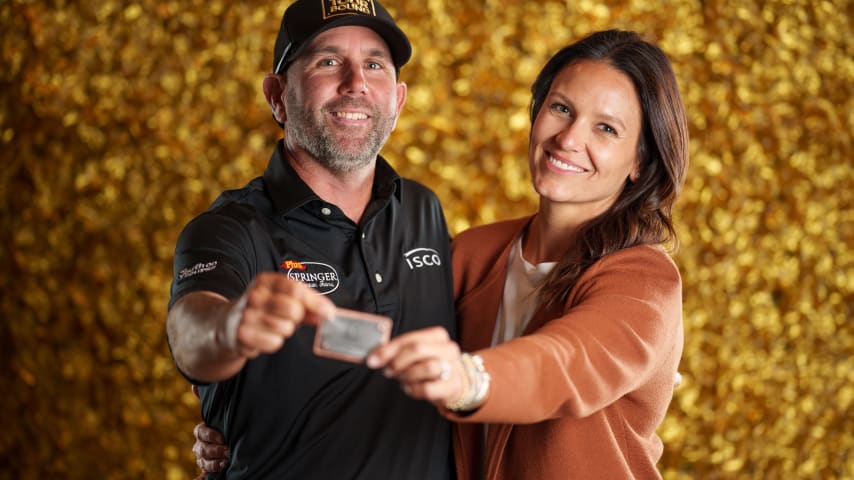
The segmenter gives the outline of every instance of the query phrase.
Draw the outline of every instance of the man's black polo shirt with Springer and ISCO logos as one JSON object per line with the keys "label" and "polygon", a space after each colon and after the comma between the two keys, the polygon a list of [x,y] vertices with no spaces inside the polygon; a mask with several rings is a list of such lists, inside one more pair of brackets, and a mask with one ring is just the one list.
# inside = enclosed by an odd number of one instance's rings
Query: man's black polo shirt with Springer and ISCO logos
{"label": "man's black polo shirt with Springer and ISCO logos", "polygon": [[[258,272],[279,271],[340,307],[391,317],[392,335],[442,325],[455,336],[449,238],[436,196],[381,157],[356,225],[303,183],[280,141],[263,177],[185,227],[169,306],[199,290],[236,298]],[[314,333],[300,327],[277,353],[200,385],[202,416],[231,449],[227,478],[451,478],[450,426],[436,409],[364,365],[315,356]]]}

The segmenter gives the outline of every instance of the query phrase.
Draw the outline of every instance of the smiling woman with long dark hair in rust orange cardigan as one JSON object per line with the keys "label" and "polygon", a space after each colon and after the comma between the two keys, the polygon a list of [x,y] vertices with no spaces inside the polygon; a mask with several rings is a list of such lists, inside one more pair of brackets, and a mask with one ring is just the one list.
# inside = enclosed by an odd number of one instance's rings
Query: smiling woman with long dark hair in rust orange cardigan
{"label": "smiling woman with long dark hair in rust orange cardigan", "polygon": [[559,51],[532,93],[539,208],[454,240],[459,346],[409,332],[368,366],[457,422],[460,479],[660,478],[683,343],[664,249],[688,162],[676,78],[611,30]]}

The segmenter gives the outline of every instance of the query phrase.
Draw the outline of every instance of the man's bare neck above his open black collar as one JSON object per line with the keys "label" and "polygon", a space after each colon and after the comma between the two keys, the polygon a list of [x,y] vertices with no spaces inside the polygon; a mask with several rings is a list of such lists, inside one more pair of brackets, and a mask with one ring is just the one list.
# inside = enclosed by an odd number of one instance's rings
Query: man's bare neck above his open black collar
{"label": "man's bare neck above his open black collar", "polygon": [[297,175],[320,198],[340,208],[347,218],[358,224],[371,200],[376,160],[358,170],[342,173],[333,172],[301,153],[288,151],[286,155]]}

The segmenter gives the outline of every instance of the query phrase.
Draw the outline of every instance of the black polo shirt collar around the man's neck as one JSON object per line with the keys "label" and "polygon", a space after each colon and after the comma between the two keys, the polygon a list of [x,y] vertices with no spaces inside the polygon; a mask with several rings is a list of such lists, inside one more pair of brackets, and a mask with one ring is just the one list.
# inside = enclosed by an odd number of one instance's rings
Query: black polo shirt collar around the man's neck
{"label": "black polo shirt collar around the man's neck", "polygon": [[[288,211],[301,207],[311,201],[323,201],[294,171],[285,154],[285,142],[279,140],[270,163],[264,170],[264,188],[273,201],[277,211]],[[382,156],[377,156],[373,200],[388,200],[394,194],[400,200],[400,176]]]}

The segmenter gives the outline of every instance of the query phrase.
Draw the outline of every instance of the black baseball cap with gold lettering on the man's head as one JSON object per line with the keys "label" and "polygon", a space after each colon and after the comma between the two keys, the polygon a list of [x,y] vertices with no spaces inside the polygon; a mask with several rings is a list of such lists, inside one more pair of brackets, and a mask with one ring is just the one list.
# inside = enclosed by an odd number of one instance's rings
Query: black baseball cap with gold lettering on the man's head
{"label": "black baseball cap with gold lettering on the man's head", "polygon": [[376,0],[297,0],[282,15],[273,50],[273,73],[287,70],[305,46],[330,28],[368,27],[385,40],[396,70],[412,55],[412,46],[388,11]]}

